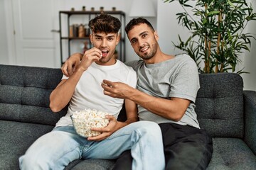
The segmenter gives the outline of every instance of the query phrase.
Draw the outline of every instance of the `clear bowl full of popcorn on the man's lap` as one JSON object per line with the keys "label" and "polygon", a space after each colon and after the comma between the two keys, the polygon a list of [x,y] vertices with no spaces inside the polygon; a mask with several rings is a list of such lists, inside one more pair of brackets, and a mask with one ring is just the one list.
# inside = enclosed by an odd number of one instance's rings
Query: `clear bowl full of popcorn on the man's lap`
{"label": "clear bowl full of popcorn on the man's lap", "polygon": [[95,137],[101,132],[93,131],[91,128],[105,128],[110,120],[106,115],[109,113],[97,111],[95,109],[85,109],[83,111],[76,111],[71,115],[75,131],[82,137]]}

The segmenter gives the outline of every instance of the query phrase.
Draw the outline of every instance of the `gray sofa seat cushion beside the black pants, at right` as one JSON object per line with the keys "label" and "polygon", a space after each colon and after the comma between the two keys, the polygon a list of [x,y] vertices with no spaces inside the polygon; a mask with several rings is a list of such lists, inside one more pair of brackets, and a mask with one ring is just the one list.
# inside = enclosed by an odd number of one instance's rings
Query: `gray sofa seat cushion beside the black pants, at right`
{"label": "gray sofa seat cushion beside the black pants, at right", "polygon": [[213,158],[207,170],[256,169],[256,156],[241,139],[213,137]]}

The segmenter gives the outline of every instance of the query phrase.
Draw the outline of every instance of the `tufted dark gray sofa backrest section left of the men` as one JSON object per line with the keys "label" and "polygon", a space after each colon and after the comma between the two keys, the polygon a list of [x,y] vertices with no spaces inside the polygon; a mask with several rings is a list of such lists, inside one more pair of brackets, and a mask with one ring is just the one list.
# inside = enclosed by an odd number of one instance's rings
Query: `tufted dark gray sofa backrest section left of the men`
{"label": "tufted dark gray sofa backrest section left of the men", "polygon": [[62,75],[60,69],[0,64],[0,120],[55,125],[67,112],[49,108]]}

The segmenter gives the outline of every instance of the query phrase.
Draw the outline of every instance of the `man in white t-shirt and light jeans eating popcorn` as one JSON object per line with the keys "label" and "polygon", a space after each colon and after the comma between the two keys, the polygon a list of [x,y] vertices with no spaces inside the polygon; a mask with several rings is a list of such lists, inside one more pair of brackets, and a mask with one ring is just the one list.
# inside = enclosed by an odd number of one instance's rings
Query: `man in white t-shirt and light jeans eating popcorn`
{"label": "man in white t-shirt and light jeans eating popcorn", "polygon": [[[50,94],[52,111],[58,112],[69,103],[68,113],[60,118],[52,132],[38,138],[20,157],[20,168],[64,169],[75,159],[117,159],[122,152],[131,149],[132,169],[164,169],[159,125],[150,121],[137,122],[137,105],[133,101],[103,94],[103,79],[119,81],[134,88],[137,85],[137,75],[132,67],[114,58],[120,21],[101,14],[93,18],[89,26],[94,47],[82,56],[74,74],[63,76]],[[127,112],[124,123],[117,121],[123,103]],[[73,128],[70,115],[86,108],[110,113],[107,115],[110,123],[106,128],[92,128],[102,132],[96,137],[81,137]]]}

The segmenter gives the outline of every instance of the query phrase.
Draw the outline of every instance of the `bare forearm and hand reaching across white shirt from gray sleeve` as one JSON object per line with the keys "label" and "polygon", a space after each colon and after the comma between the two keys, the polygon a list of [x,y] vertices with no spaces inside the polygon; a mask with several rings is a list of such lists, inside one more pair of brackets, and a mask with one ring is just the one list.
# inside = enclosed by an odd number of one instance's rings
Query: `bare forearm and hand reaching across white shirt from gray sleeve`
{"label": "bare forearm and hand reaching across white shirt from gray sleeve", "polygon": [[178,121],[183,117],[190,101],[184,98],[159,98],[150,96],[121,82],[103,80],[104,94],[114,98],[124,98],[146,108],[156,115]]}

